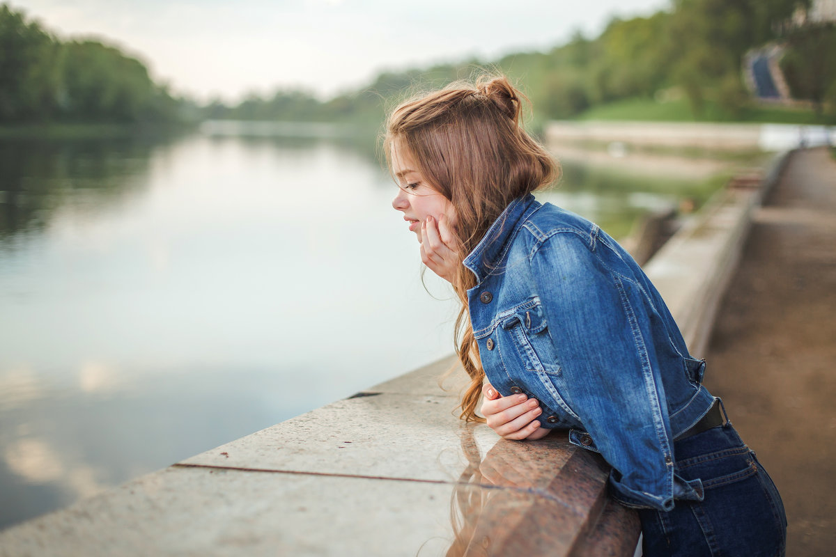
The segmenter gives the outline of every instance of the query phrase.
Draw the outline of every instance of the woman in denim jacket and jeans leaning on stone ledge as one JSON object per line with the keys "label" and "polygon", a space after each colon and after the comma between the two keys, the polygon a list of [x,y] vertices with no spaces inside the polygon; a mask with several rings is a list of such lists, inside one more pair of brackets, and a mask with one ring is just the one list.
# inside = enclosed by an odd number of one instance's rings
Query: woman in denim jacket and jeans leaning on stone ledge
{"label": "woman in denim jacket and jeans leaning on stone ledge", "polygon": [[534,200],[558,167],[523,129],[524,99],[482,78],[387,121],[392,205],[461,300],[461,417],[478,419],[487,376],[482,413],[497,433],[563,428],[601,453],[614,499],[639,509],[645,555],[783,554],[777,490],[655,287],[597,225]]}

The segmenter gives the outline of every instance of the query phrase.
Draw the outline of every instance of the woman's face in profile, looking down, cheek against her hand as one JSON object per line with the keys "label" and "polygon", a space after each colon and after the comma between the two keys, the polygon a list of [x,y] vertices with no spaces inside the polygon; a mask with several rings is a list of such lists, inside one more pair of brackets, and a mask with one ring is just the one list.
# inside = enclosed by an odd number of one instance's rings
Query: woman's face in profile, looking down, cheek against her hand
{"label": "woman's face in profile, looking down, cheek against her hand", "polygon": [[404,214],[404,220],[409,222],[410,230],[415,232],[420,242],[421,223],[427,216],[433,217],[437,223],[438,218],[445,215],[447,224],[452,226],[456,224],[456,212],[450,200],[421,175],[412,154],[407,149],[400,149],[397,143],[392,143],[392,170],[399,188],[392,206]]}

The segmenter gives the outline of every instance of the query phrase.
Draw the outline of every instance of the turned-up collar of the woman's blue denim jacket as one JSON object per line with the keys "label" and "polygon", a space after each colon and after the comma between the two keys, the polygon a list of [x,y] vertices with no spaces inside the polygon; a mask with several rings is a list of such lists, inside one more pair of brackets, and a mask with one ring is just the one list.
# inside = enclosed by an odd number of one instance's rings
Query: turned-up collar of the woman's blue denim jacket
{"label": "turned-up collar of the woman's blue denim jacket", "polygon": [[497,271],[497,265],[511,246],[513,232],[539,206],[531,194],[517,197],[502,211],[502,215],[493,221],[482,240],[463,261],[464,266],[476,275],[477,281],[481,283],[492,272]]}

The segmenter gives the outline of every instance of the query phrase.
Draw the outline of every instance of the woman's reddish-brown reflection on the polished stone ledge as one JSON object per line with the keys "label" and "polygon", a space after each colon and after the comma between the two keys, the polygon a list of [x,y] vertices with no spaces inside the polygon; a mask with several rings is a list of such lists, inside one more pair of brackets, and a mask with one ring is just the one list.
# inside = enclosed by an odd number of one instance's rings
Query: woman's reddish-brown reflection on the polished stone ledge
{"label": "woman's reddish-brown reflection on the polished stone ledge", "polygon": [[565,433],[529,443],[499,439],[482,458],[473,427],[465,426],[461,450],[468,464],[453,488],[447,557],[570,554],[588,534],[594,547],[583,554],[635,547],[638,516],[606,495],[609,466]]}

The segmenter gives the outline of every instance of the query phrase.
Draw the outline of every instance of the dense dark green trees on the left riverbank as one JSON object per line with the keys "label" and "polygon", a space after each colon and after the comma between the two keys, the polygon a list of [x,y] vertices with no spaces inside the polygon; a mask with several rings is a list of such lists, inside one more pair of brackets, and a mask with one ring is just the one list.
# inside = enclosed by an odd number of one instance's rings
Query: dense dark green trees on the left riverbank
{"label": "dense dark green trees on the left riverbank", "polygon": [[170,122],[182,103],[120,49],[61,41],[0,4],[0,124]]}

